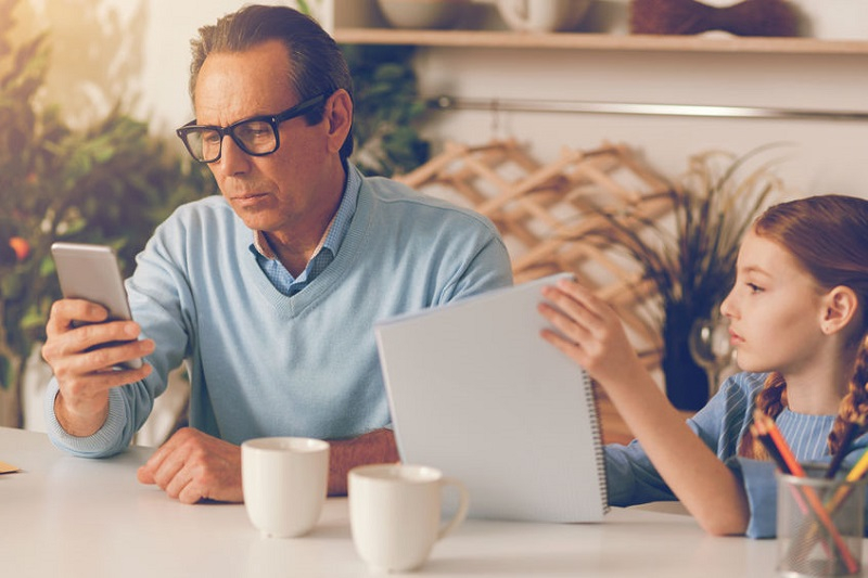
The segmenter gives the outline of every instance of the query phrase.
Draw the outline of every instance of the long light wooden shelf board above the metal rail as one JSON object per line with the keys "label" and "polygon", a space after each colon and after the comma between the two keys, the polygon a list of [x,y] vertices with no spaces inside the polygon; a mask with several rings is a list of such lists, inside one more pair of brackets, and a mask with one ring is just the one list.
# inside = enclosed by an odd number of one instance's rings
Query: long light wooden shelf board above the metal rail
{"label": "long light wooden shelf board above the metal rail", "polygon": [[526,34],[505,30],[337,28],[347,44],[413,44],[458,48],[525,48],[656,52],[868,55],[868,40],[730,36],[646,36],[583,33]]}

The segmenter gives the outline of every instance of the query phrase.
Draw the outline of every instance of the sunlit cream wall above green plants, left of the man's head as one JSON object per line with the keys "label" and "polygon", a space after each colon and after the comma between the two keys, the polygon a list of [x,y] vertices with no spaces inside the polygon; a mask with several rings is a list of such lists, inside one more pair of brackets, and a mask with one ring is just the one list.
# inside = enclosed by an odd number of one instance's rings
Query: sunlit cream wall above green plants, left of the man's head
{"label": "sunlit cream wall above green plants, left of the man's head", "polygon": [[[294,2],[257,0],[265,4]],[[79,124],[116,102],[174,138],[190,120],[190,39],[200,26],[237,10],[240,0],[25,0],[20,35],[49,31],[47,103]]]}

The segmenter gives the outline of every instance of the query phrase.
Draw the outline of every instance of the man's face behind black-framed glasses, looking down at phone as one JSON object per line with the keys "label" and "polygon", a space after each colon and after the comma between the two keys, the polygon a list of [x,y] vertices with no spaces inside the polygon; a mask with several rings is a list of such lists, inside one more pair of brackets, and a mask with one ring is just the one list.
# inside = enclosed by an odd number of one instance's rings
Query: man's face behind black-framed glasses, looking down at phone
{"label": "man's face behind black-framed glasses, looking down at phone", "polygon": [[[290,87],[290,60],[277,40],[245,52],[218,52],[205,59],[195,89],[200,125],[228,126],[257,115],[275,115],[298,104]],[[339,157],[330,151],[328,120],[307,126],[302,117],[280,125],[280,147],[251,156],[224,138],[220,159],[210,163],[217,184],[251,229],[276,235],[333,210],[342,190],[334,191]],[[333,145],[331,146],[333,149]]]}

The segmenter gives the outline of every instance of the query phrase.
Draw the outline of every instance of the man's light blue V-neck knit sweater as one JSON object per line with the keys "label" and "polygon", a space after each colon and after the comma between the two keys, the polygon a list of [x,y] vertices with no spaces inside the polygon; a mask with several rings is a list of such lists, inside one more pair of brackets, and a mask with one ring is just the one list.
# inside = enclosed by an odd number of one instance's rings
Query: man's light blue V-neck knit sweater
{"label": "man's light blue V-neck knit sweater", "polygon": [[122,451],[183,359],[190,424],[233,444],[348,438],[387,426],[373,323],[509,285],[512,275],[487,219],[387,179],[354,181],[361,183],[356,211],[334,261],[292,297],[259,269],[252,231],[222,197],[177,209],[127,281],[133,318],[156,342],[146,359],[155,371],[112,389],[106,423],[86,438],[60,427],[52,380],[52,441],[85,457]]}

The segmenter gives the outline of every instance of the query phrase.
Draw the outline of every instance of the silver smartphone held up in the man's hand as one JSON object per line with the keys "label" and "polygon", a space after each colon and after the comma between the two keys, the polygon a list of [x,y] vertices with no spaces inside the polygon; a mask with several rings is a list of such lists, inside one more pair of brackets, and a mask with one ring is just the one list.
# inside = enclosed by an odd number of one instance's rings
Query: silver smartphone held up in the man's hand
{"label": "silver smartphone held up in the man's hand", "polygon": [[[124,288],[124,277],[112,247],[58,242],[51,245],[51,256],[58,268],[58,279],[64,297],[87,299],[102,305],[108,309],[107,321],[132,319],[127,291]],[[117,343],[119,342],[110,342],[98,347],[110,347]],[[131,359],[120,365],[139,369],[142,360]]]}

